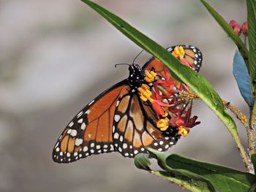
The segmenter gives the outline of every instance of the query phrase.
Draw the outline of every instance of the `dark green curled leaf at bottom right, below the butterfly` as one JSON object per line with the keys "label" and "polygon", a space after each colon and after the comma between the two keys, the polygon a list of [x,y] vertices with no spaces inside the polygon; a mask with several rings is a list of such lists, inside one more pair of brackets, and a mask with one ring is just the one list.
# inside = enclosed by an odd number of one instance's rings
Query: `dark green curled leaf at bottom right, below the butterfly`
{"label": "dark green curled leaf at bottom right, below the butterfly", "polygon": [[157,156],[159,166],[165,171],[185,169],[200,174],[209,180],[217,191],[249,191],[251,185],[255,183],[255,175],[236,169],[196,161],[181,155],[165,155],[152,149],[150,153]]}

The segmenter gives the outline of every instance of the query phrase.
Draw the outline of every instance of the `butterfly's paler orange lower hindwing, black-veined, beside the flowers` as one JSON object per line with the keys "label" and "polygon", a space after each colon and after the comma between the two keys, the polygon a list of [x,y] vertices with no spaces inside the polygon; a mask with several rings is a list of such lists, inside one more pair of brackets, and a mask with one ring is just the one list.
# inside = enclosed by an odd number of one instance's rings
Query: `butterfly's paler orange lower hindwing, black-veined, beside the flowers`
{"label": "butterfly's paler orange lower hindwing, black-veined, beside the flowers", "polygon": [[146,147],[165,151],[174,145],[177,139],[170,137],[170,133],[159,131],[155,122],[157,116],[151,107],[143,104],[129,87],[124,89],[118,99],[113,123],[115,150],[124,157],[133,158],[137,153],[146,153]]}

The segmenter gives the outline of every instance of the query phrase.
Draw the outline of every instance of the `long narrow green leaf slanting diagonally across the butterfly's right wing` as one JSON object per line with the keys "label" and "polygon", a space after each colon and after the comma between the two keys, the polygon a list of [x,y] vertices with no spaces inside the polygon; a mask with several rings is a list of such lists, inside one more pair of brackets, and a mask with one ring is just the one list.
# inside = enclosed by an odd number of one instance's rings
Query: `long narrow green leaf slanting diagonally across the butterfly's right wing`
{"label": "long narrow green leaf slanting diagonally across the butterfly's right wing", "polygon": [[189,85],[195,93],[200,96],[200,99],[206,102],[208,107],[213,110],[217,116],[222,120],[225,126],[230,131],[230,134],[233,135],[234,138],[238,138],[236,124],[233,118],[225,112],[224,106],[222,104],[222,99],[220,99],[219,95],[214,88],[211,87],[210,83],[200,74],[197,74],[192,69],[180,62],[164,47],[154,42],[152,39],[146,37],[146,35],[142,34],[140,31],[130,26],[121,18],[118,18],[113,13],[108,10],[100,7],[89,0],[82,0],[86,4],[89,5],[92,9],[102,15],[108,22],[113,24],[119,31],[121,31],[125,36],[135,42],[138,46],[142,47],[148,53],[154,55],[154,57],[158,58],[162,61],[163,64],[169,69],[171,72],[175,73],[179,79],[181,79],[184,83]]}

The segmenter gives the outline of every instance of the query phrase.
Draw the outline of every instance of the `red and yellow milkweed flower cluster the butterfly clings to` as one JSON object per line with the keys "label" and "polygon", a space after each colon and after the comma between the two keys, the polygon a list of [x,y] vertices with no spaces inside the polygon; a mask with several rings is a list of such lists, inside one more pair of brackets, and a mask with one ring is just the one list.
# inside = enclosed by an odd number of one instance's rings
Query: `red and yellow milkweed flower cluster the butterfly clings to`
{"label": "red and yellow milkweed flower cluster the butterfly clings to", "polygon": [[[183,47],[176,47],[173,55],[179,59],[181,64],[189,66],[190,64],[184,58]],[[170,72],[164,67],[164,77],[157,75],[154,70],[145,73],[145,81],[138,88],[140,99],[149,102],[152,109],[157,114],[157,128],[161,131],[175,129],[178,135],[187,137],[189,128],[198,125],[197,116],[191,116],[192,100],[199,99],[187,85],[184,85],[171,77]]]}

